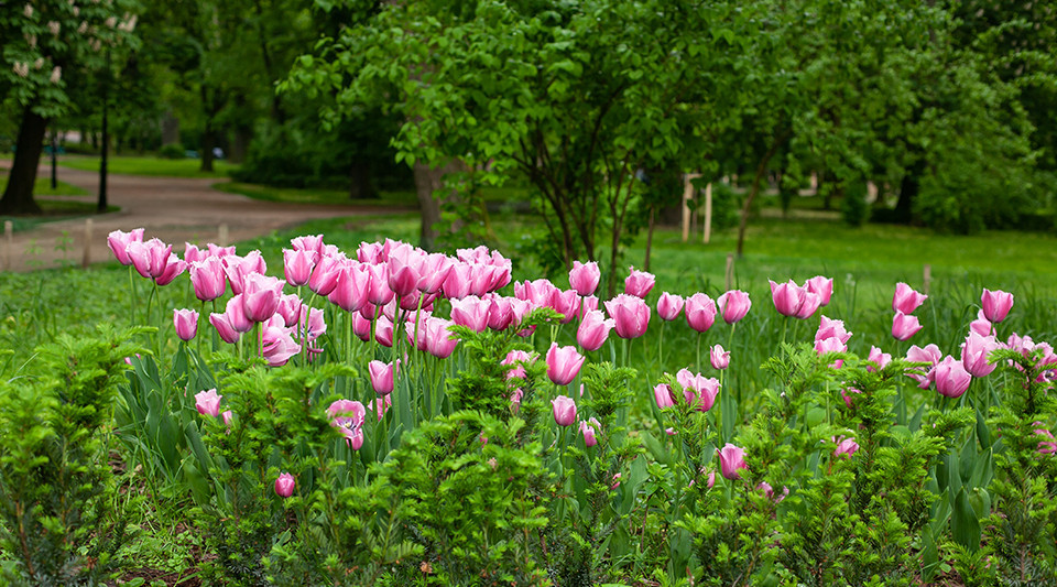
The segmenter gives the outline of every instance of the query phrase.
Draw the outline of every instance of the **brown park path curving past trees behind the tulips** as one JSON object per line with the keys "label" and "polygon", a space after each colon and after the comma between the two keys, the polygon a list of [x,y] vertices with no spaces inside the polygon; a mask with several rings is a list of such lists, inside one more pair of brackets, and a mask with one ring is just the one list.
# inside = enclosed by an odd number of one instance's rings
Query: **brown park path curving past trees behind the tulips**
{"label": "brown park path curving past trees behind the tulips", "polygon": [[[0,160],[0,169],[10,166]],[[48,177],[51,167],[41,165],[39,177]],[[59,181],[86,189],[88,196],[62,196],[63,199],[97,202],[98,172],[59,166]],[[221,226],[227,229],[227,243],[237,242],[273,230],[336,216],[361,216],[404,211],[406,208],[309,205],[261,202],[238,194],[214,189],[222,178],[151,177],[116,175],[107,177],[107,200],[121,209],[91,216],[89,260],[92,263],[113,258],[107,248],[107,235],[113,230],[144,228],[144,239],[157,237],[173,243],[173,251],[183,256],[184,241],[220,243]],[[14,232],[11,241],[0,242],[0,268],[6,271],[80,264],[85,256],[86,219],[76,218],[44,222],[36,228]]]}

